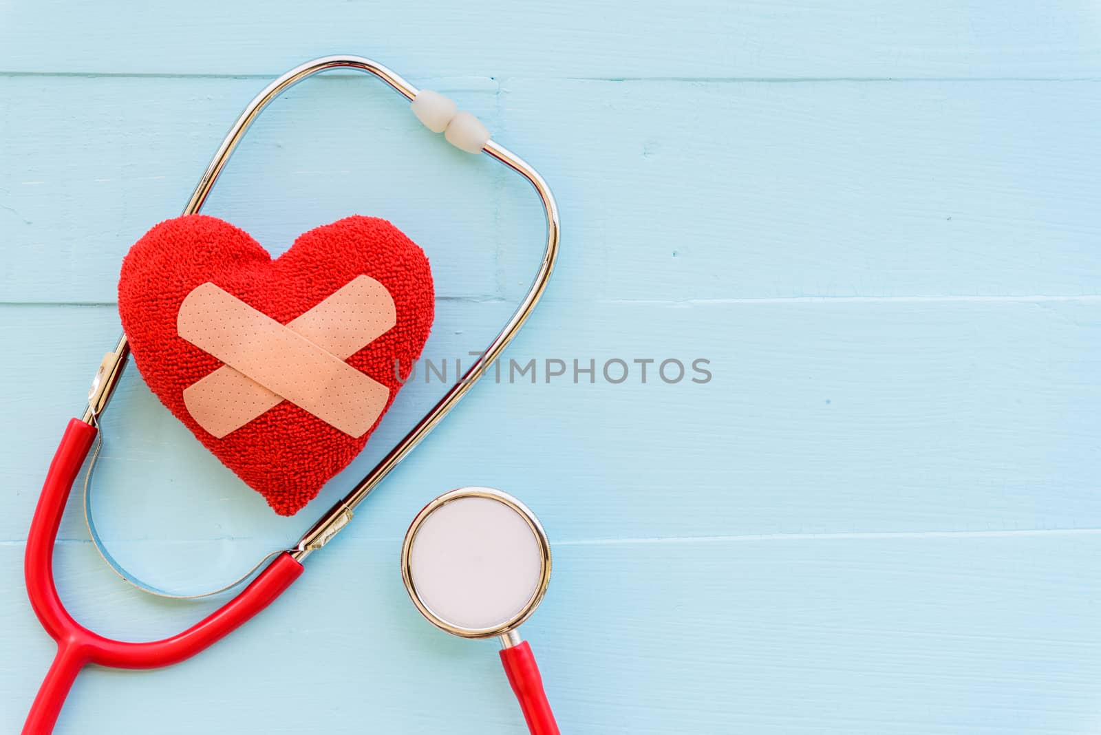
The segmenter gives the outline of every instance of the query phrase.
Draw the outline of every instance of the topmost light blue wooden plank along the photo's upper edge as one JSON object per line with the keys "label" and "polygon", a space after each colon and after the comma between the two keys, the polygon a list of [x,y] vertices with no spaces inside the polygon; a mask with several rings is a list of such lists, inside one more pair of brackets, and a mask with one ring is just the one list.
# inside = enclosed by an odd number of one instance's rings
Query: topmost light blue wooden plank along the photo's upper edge
{"label": "topmost light blue wooden plank along the photo's upper edge", "polygon": [[[625,12],[624,12],[625,10]],[[1101,73],[1098,8],[838,0],[0,8],[0,70],[274,75],[335,52],[411,77],[1066,77]],[[120,29],[124,28],[124,43]]]}

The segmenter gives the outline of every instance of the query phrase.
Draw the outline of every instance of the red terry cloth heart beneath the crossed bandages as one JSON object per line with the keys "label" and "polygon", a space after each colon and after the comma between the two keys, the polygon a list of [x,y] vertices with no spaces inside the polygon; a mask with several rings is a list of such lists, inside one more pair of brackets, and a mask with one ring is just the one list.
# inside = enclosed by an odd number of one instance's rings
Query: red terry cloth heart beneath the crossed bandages
{"label": "red terry cloth heart beneath the crossed bandages", "polygon": [[181,304],[197,286],[212,283],[286,325],[362,275],[390,293],[396,323],[347,363],[389,388],[389,408],[421,355],[434,316],[428,260],[390,222],[348,217],[299,235],[272,260],[243,230],[190,215],[154,227],[122,262],[119,315],[145,382],[280,515],[292,515],[313,500],[363,449],[378,420],[352,437],[283,401],[225,437],[214,437],[188,413],[183,392],[222,363],[179,337]]}

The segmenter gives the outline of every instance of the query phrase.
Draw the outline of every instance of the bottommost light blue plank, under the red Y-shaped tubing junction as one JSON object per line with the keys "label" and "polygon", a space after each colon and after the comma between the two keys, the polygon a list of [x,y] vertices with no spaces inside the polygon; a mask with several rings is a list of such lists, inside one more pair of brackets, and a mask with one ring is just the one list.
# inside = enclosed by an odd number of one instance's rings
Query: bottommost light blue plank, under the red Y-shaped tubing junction
{"label": "bottommost light blue plank, under the red Y-shaped tubing junction", "polygon": [[[86,671],[56,732],[520,732],[495,645],[423,622],[397,551],[397,537],[341,537],[198,658]],[[524,633],[563,732],[1097,726],[1097,531],[585,541],[554,553],[549,594]],[[53,652],[18,593],[21,557],[21,545],[0,546],[0,585],[15,592],[0,597],[0,651],[20,661],[0,669],[4,732]],[[163,636],[205,610],[140,597],[86,544],[57,557],[63,596],[107,635]]]}

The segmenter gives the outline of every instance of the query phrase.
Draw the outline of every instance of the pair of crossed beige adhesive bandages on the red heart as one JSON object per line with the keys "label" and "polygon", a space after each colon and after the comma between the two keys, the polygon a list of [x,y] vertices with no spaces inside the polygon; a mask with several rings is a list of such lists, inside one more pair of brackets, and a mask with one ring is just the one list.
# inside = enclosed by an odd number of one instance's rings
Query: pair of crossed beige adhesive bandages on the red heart
{"label": "pair of crossed beige adhesive bandages on the red heart", "polygon": [[217,438],[284,398],[349,436],[362,436],[390,390],[344,362],[397,321],[385,287],[358,276],[281,325],[214,284],[181,305],[179,336],[226,365],[184,390],[188,413]]}

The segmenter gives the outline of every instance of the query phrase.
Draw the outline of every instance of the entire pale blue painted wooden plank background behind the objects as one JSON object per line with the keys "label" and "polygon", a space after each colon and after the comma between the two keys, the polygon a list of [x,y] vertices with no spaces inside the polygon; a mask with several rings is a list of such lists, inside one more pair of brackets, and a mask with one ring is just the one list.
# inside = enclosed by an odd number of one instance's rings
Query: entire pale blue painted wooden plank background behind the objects
{"label": "entire pale blue painted wooden plank background behind the objects", "polygon": [[[121,257],[270,78],[330,53],[453,96],[547,178],[562,259],[505,358],[570,371],[478,385],[270,610],[170,669],[87,670],[56,732],[523,732],[495,644],[430,627],[397,570],[416,511],[467,484],[552,537],[524,635],[564,733],[1101,729],[1095,2],[0,0],[0,732],[53,656],[26,528],[119,331]],[[273,105],[205,211],[275,253],[391,219],[432,259],[426,354],[451,361],[543,233],[526,184],[353,74]],[[712,380],[571,380],[671,358]],[[231,579],[443,390],[408,385],[286,519],[131,370],[103,537],[165,586]],[[75,503],[62,539],[62,595],[106,635],[212,607],[122,585]]]}

